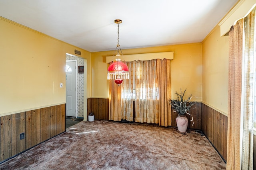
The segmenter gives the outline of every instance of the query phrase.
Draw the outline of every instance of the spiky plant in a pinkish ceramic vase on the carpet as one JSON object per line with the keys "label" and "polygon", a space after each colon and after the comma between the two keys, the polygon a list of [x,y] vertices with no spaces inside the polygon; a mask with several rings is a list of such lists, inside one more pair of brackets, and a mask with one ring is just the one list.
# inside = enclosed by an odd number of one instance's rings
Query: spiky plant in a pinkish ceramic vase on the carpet
{"label": "spiky plant in a pinkish ceramic vase on the carpet", "polygon": [[176,123],[177,123],[178,131],[180,131],[181,133],[185,133],[188,127],[188,118],[186,117],[185,114],[188,114],[192,117],[190,121],[193,122],[192,126],[194,125],[193,116],[190,114],[190,110],[196,108],[196,107],[191,108],[194,104],[196,104],[196,102],[189,102],[192,98],[192,94],[190,94],[188,99],[185,100],[184,95],[186,90],[182,92],[182,89],[180,88],[180,94],[178,94],[177,91],[175,93],[177,94],[177,99],[169,100],[169,104],[172,106],[173,111],[178,113],[178,117],[176,117]]}

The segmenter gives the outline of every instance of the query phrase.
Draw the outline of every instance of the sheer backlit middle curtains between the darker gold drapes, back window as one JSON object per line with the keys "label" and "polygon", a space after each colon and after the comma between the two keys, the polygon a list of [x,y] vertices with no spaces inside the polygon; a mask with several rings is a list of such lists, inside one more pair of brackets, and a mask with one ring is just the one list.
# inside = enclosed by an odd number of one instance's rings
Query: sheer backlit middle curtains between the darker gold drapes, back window
{"label": "sheer backlit middle curtains between the darker gold drapes, back window", "polygon": [[[124,80],[121,100],[124,118],[132,119],[133,100],[136,107],[136,122],[155,123],[158,117],[158,83],[156,73],[156,59],[149,61],[126,62],[130,79]],[[124,107],[123,107],[124,106]],[[129,107],[129,108],[128,108]]]}

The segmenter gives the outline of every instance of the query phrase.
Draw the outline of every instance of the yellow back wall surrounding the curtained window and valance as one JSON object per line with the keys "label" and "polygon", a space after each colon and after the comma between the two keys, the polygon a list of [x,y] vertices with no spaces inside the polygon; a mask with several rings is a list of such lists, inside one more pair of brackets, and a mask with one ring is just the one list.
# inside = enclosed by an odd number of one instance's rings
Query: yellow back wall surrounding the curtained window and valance
{"label": "yellow back wall surrounding the curtained window and valance", "polygon": [[[122,45],[121,45],[122,47]],[[174,60],[171,61],[172,98],[176,98],[175,91],[187,88],[187,94],[193,94],[192,100],[201,101],[202,97],[202,44],[169,45],[140,49],[123,49],[123,55],[158,53],[174,51]],[[108,98],[106,56],[113,55],[114,51],[92,53],[92,97]]]}

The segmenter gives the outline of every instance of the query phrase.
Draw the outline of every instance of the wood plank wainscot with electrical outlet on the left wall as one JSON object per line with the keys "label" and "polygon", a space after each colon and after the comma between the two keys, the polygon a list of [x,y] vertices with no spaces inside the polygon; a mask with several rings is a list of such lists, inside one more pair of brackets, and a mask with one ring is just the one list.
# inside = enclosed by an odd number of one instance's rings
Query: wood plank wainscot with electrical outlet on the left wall
{"label": "wood plank wainscot with electrical outlet on the left wall", "polygon": [[[65,104],[0,117],[0,162],[65,131]],[[24,139],[20,140],[20,134]]]}

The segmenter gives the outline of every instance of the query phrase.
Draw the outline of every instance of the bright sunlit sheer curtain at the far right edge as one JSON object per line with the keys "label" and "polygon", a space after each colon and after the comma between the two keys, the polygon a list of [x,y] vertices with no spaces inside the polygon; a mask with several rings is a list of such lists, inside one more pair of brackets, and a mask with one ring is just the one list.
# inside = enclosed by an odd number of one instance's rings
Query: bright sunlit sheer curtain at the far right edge
{"label": "bright sunlit sheer curtain at the far right edge", "polygon": [[[242,80],[242,170],[253,169],[253,91],[255,8],[244,18],[244,62]],[[256,166],[256,165],[255,165]]]}

